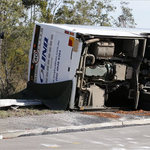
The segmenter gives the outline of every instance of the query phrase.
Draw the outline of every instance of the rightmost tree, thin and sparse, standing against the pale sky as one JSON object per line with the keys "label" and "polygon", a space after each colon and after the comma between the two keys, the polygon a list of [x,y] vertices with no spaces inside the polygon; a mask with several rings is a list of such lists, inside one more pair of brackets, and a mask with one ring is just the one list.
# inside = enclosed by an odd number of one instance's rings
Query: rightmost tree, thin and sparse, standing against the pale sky
{"label": "rightmost tree, thin and sparse, standing against the pale sky", "polygon": [[122,12],[118,17],[118,20],[114,23],[117,27],[134,28],[136,25],[132,14],[132,9],[127,6],[128,4],[128,2],[120,2]]}

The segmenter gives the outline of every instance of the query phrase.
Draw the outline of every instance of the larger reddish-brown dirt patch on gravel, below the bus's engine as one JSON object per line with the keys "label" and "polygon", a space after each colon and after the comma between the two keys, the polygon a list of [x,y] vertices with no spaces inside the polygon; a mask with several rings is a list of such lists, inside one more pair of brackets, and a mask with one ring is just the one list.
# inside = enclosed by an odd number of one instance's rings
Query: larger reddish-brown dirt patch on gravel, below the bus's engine
{"label": "larger reddish-brown dirt patch on gravel, below the bus's engine", "polygon": [[103,117],[103,118],[120,118],[120,116],[118,115],[114,115],[112,113],[107,113],[107,112],[84,112],[82,114],[94,115],[94,116]]}

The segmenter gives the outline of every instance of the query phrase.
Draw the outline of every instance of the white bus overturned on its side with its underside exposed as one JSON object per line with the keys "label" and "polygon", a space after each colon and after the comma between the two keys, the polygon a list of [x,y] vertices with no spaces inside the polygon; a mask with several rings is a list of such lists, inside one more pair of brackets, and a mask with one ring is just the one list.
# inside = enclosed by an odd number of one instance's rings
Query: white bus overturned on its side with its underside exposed
{"label": "white bus overturned on its side with its underside exposed", "polygon": [[28,72],[51,109],[150,110],[150,30],[37,23]]}

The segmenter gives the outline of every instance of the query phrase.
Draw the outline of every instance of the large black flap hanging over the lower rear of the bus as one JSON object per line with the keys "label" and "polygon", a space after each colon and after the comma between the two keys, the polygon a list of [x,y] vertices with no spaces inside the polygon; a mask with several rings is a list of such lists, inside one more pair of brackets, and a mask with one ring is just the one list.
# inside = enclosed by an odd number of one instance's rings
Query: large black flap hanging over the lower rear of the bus
{"label": "large black flap hanging over the lower rear of the bus", "polygon": [[72,80],[51,84],[28,82],[25,90],[9,98],[41,100],[52,110],[65,110],[70,100],[71,90]]}

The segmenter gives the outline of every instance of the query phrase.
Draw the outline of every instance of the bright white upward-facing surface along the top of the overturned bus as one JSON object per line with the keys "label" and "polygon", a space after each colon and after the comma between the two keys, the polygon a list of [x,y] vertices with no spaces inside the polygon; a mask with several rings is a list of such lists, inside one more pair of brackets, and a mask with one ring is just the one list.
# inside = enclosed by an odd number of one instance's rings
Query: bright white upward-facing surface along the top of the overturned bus
{"label": "bright white upward-facing surface along the top of the overturned bus", "polygon": [[51,26],[57,29],[69,30],[74,33],[81,33],[85,35],[90,34],[115,37],[147,37],[148,35],[150,35],[150,29],[46,23],[42,23],[42,25]]}

